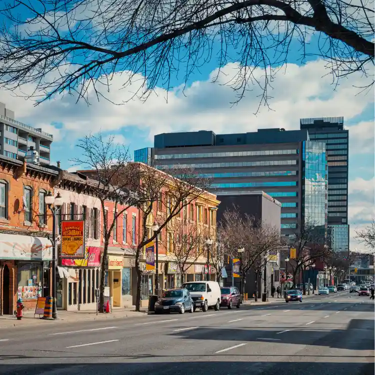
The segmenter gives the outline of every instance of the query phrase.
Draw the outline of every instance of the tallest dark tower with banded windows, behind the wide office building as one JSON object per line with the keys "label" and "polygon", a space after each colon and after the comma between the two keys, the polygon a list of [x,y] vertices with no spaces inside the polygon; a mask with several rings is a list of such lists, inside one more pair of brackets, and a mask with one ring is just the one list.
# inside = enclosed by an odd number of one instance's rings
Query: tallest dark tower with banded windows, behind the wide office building
{"label": "tallest dark tower with banded windows, behind the wide office building", "polygon": [[301,118],[300,129],[306,129],[310,139],[326,145],[328,239],[332,249],[347,252],[349,249],[347,221],[349,131],[344,128],[343,117]]}

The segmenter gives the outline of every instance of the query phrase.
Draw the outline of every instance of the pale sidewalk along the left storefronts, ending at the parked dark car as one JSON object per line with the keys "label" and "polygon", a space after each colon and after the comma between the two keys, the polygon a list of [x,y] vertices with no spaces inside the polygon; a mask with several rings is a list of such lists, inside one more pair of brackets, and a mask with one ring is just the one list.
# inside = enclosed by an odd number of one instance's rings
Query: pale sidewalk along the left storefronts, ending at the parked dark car
{"label": "pale sidewalk along the left storefronts, ending at the parked dark car", "polygon": [[[65,311],[57,310],[58,319],[43,320],[39,319],[39,315],[33,315],[32,312],[26,312],[21,320],[17,320],[14,315],[0,316],[0,329],[10,327],[26,327],[43,324],[66,324],[69,322],[76,322],[81,320],[103,320],[125,317],[143,317],[146,316],[147,308],[142,307],[140,312],[135,311],[135,306],[122,308],[113,307],[111,313],[98,313],[95,311]],[[41,315],[40,315],[41,316]]]}

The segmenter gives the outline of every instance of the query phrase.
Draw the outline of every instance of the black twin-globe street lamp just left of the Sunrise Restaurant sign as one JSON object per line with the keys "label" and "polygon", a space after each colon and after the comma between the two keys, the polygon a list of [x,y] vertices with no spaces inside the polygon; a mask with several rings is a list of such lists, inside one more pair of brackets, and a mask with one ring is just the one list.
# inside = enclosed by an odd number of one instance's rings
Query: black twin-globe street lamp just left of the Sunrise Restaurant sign
{"label": "black twin-globe street lamp just left of the Sunrise Restaurant sign", "polygon": [[[44,202],[52,212],[52,318],[57,319],[56,309],[56,215],[63,204],[63,199],[58,192],[53,196],[50,191],[45,195]],[[52,207],[53,205],[53,207]]]}

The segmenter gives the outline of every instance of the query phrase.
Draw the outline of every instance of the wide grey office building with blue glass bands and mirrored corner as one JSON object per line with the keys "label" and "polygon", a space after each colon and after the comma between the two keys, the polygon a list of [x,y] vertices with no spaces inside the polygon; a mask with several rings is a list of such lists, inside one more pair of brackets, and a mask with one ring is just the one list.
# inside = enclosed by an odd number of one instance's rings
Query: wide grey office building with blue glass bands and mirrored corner
{"label": "wide grey office building with blue glass bands and mirrored corner", "polygon": [[[193,167],[211,178],[215,194],[262,190],[281,202],[281,233],[292,234],[309,221],[326,228],[325,144],[308,132],[271,128],[238,134],[190,131],[157,134],[147,153],[150,164],[167,171]],[[144,162],[144,161],[143,161]]]}

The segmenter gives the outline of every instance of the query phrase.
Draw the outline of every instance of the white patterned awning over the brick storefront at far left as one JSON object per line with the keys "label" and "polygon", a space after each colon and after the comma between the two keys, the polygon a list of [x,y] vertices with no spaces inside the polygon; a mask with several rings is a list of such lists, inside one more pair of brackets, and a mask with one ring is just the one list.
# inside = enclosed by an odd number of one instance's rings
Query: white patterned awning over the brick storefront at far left
{"label": "white patterned awning over the brick storefront at far left", "polygon": [[0,259],[52,260],[52,242],[47,237],[0,233]]}

